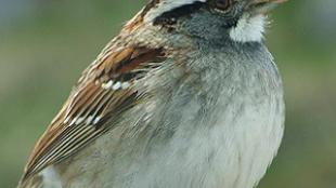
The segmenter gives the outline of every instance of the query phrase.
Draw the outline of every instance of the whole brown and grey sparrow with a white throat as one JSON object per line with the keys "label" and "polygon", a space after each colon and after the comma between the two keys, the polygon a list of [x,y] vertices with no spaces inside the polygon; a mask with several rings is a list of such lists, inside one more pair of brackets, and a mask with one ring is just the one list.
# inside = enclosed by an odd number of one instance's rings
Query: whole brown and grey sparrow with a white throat
{"label": "whole brown and grey sparrow with a white throat", "polygon": [[151,0],[80,76],[18,188],[254,188],[284,134],[285,0]]}

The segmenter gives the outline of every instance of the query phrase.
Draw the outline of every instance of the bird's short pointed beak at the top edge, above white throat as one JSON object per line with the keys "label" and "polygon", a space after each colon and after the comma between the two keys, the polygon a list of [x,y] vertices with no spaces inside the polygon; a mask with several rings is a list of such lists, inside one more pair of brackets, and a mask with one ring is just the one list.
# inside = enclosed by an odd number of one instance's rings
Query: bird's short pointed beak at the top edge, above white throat
{"label": "bird's short pointed beak at the top edge, above white throat", "polygon": [[267,14],[276,5],[286,1],[287,0],[250,0],[246,5],[246,10],[253,15]]}

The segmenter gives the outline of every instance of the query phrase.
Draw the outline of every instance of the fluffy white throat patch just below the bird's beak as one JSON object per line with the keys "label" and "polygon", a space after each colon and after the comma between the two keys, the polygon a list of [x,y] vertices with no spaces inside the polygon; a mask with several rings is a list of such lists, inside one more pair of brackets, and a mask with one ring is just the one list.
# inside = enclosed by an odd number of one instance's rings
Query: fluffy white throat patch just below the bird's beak
{"label": "fluffy white throat patch just below the bird's beak", "polygon": [[243,15],[236,27],[230,31],[230,37],[236,42],[260,42],[263,39],[266,17]]}

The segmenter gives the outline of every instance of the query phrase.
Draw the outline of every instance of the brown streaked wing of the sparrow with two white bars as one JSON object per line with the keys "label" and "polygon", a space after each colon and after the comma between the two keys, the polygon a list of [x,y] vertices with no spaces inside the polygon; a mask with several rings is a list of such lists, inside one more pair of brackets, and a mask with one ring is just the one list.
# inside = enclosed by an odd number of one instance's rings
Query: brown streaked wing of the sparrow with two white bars
{"label": "brown streaked wing of the sparrow with two white bars", "polygon": [[[161,49],[105,49],[82,75],[69,98],[39,139],[23,179],[67,158],[108,131],[137,100],[133,83],[163,62]],[[157,63],[157,64],[156,64]],[[111,122],[111,121],[108,121]]]}

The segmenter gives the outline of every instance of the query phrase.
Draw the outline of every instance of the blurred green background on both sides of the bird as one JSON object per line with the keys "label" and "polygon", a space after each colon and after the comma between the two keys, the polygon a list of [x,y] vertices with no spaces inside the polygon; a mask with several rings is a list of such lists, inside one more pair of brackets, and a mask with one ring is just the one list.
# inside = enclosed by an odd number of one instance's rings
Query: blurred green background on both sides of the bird
{"label": "blurred green background on both sides of the bird", "polygon": [[[0,187],[15,187],[73,83],[144,0],[0,0]],[[260,188],[336,187],[336,1],[292,0],[268,44],[286,90],[283,146]]]}

